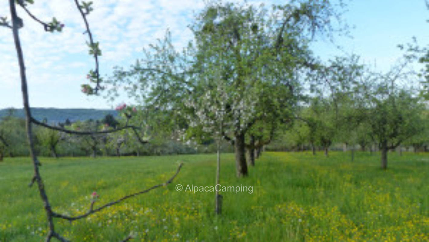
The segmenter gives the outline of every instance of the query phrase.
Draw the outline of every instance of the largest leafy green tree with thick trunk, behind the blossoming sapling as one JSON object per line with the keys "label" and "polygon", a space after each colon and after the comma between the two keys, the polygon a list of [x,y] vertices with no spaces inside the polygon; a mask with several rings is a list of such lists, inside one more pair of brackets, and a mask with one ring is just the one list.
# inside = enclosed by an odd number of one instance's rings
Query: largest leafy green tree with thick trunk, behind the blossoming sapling
{"label": "largest leafy green tree with thick trunk, behind the blossoming sapling", "polygon": [[112,92],[127,84],[146,107],[187,123],[204,95],[221,96],[212,82],[219,79],[227,94],[225,124],[232,124],[224,138],[235,146],[236,175],[245,176],[246,134],[259,120],[276,123],[289,115],[300,91],[298,73],[312,66],[308,43],[316,33],[332,36],[335,17],[329,1],[292,2],[271,11],[209,3],[190,27],[194,42],[176,52],[167,35],[130,70],[117,69]]}

